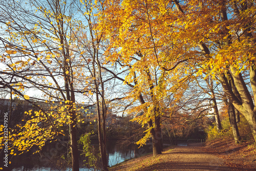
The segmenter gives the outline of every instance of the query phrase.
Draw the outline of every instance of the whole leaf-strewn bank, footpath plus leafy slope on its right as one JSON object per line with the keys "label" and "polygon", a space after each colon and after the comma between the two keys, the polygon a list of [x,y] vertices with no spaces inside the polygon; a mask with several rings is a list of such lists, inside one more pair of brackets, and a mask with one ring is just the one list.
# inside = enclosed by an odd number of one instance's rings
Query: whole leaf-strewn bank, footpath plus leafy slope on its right
{"label": "whole leaf-strewn bank, footpath plus leafy slope on its right", "polygon": [[[253,149],[255,148],[245,150],[250,143],[236,145],[229,140],[216,140],[211,143],[189,143],[188,146],[170,146],[165,148],[161,155],[153,157],[152,153],[146,154],[119,163],[111,167],[110,170],[256,170],[253,165],[253,157],[255,158]],[[248,157],[241,156],[240,152],[242,151]],[[236,156],[239,156],[239,158]],[[243,160],[241,160],[240,156]]]}

